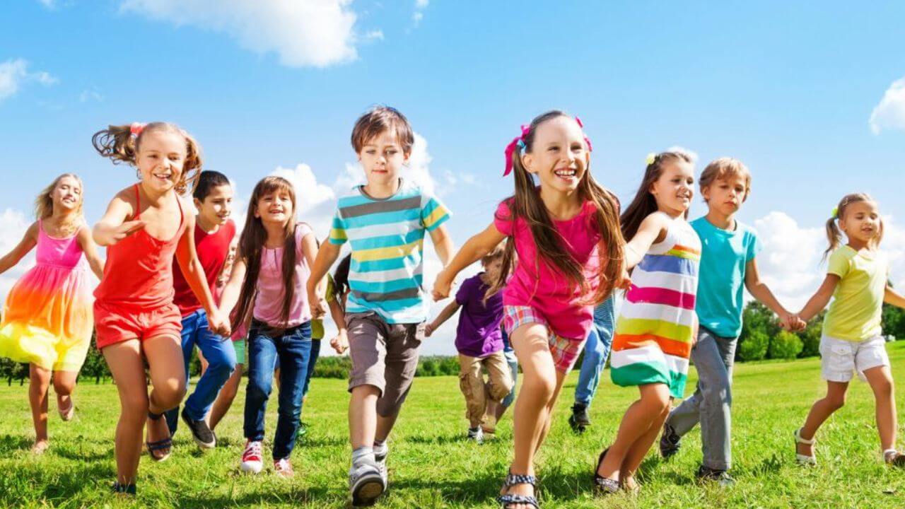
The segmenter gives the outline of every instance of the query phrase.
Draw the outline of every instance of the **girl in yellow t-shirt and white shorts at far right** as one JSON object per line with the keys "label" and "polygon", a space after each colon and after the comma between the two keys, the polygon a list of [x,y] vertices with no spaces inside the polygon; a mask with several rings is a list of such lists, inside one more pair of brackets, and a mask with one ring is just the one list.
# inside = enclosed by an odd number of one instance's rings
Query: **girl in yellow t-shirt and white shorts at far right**
{"label": "girl in yellow t-shirt and white shorts at far right", "polygon": [[[840,246],[843,233],[848,243]],[[826,396],[814,402],[805,426],[795,431],[795,457],[800,464],[816,464],[814,434],[824,420],[842,408],[849,380],[857,371],[871,384],[876,399],[883,459],[890,465],[905,466],[905,454],[895,448],[896,406],[890,359],[880,326],[882,304],[905,308],[905,297],[887,282],[889,262],[878,250],[882,234],[877,203],[862,193],[843,197],[826,222],[830,241],[826,254],[832,252],[826,278],[799,313],[807,321],[834,297],[820,340]]]}

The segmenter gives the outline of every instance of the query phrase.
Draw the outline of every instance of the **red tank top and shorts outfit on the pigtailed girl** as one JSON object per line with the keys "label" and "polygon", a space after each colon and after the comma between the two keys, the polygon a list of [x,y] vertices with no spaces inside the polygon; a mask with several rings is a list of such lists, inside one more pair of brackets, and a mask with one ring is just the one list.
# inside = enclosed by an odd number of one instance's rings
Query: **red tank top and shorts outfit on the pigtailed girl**
{"label": "red tank top and shorts outfit on the pigtailed girl", "polygon": [[[121,341],[145,341],[182,332],[182,314],[173,303],[173,257],[186,231],[186,217],[179,205],[179,229],[164,241],[144,228],[107,247],[104,277],[94,291],[94,326],[98,349]],[[138,184],[136,213],[141,217]]]}

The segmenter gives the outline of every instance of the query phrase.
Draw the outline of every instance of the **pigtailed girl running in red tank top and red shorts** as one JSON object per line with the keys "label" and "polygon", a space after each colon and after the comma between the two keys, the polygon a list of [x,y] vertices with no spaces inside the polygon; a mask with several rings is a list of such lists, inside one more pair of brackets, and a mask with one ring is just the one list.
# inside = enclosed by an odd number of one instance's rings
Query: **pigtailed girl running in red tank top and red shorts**
{"label": "pigtailed girl running in red tank top and red shorts", "polygon": [[186,392],[182,317],[173,303],[174,256],[204,305],[211,330],[228,333],[229,325],[214,306],[195,254],[195,216],[186,214],[179,196],[194,186],[201,168],[195,140],[172,124],[154,122],[110,126],[92,141],[101,156],[135,166],[140,178],[113,197],[92,232],[98,245],[108,246],[94,293],[94,319],[98,349],[119,390],[113,490],[134,495],[146,420],[148,454],[164,460],[171,441],[162,416]]}

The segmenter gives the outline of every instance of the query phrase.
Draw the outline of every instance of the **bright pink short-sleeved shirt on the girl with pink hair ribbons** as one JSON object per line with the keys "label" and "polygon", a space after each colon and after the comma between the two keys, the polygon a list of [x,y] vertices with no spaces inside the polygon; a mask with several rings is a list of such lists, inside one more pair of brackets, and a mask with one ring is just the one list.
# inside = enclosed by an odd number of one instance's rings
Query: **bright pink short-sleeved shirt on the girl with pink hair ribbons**
{"label": "bright pink short-sleeved shirt on the girl with pink hair ribbons", "polygon": [[591,297],[599,284],[595,274],[600,266],[601,235],[595,225],[594,203],[585,202],[581,212],[571,219],[553,222],[562,235],[567,252],[584,267],[590,292],[585,295],[581,293],[581,286],[569,282],[564,274],[559,274],[545,260],[538,258],[528,223],[520,217],[514,224],[512,222],[508,205],[510,199],[500,203],[493,219],[500,233],[515,239],[519,257],[514,274],[503,290],[503,304],[534,308],[547,319],[551,331],[557,336],[585,340],[594,322],[594,306],[581,301]]}

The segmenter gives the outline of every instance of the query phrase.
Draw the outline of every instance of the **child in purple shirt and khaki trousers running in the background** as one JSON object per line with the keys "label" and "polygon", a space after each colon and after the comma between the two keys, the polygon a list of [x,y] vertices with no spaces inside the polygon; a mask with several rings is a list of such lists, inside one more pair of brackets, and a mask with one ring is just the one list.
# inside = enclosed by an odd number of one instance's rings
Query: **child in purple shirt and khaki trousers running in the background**
{"label": "child in purple shirt and khaki trousers running in the background", "polygon": [[[484,272],[464,282],[439,315],[427,324],[425,335],[430,336],[459,308],[459,327],[456,329],[455,348],[459,351],[459,388],[465,396],[465,417],[469,420],[468,437],[479,444],[483,430],[492,433],[496,416],[487,411],[487,403],[499,403],[512,389],[512,375],[506,356],[503,355],[503,339],[500,322],[503,319],[502,293],[485,297],[502,268],[503,245],[481,258]],[[487,370],[485,382],[481,366]],[[483,430],[482,430],[483,428]]]}

